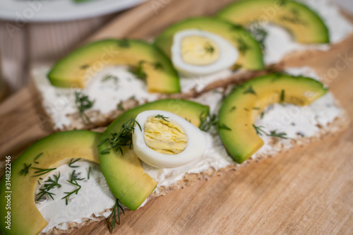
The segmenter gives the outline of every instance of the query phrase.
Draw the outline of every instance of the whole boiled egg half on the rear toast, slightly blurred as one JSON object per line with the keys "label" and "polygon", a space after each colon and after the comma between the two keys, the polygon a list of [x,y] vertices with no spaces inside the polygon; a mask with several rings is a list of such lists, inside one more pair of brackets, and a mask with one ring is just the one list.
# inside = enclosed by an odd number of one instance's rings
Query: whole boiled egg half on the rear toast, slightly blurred
{"label": "whole boiled egg half on the rear toast, slightly blurred", "polygon": [[220,35],[204,30],[182,30],[173,37],[172,62],[186,76],[205,75],[230,68],[239,52]]}

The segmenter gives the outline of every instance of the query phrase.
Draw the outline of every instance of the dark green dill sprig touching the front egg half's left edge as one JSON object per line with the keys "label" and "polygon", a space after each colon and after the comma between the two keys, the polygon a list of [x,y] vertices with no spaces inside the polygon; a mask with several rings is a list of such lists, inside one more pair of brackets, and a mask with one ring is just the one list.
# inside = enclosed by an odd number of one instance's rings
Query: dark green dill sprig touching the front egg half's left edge
{"label": "dark green dill sprig touching the front egg half's left edge", "polygon": [[136,121],[136,119],[128,119],[128,121],[121,125],[121,131],[119,131],[119,133],[111,133],[112,137],[110,139],[105,138],[98,144],[98,146],[100,146],[102,145],[102,143],[108,141],[109,145],[111,146],[105,150],[102,150],[100,153],[107,154],[110,152],[109,150],[113,149],[116,152],[119,150],[122,155],[123,150],[121,147],[129,146],[131,148],[132,134],[135,131],[135,124],[137,124],[137,126],[140,128],[140,131],[142,131],[142,128],[140,124]]}

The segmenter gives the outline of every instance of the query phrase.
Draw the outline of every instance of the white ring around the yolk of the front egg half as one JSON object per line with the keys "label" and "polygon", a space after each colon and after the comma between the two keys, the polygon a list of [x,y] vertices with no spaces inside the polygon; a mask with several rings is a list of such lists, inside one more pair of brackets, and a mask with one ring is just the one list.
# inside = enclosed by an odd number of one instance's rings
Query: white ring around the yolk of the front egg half
{"label": "white ring around the yolk of the front egg half", "polygon": [[[182,152],[175,155],[167,155],[152,150],[146,145],[144,139],[145,121],[148,117],[157,116],[159,114],[179,123],[179,125],[184,128],[188,140],[186,148]],[[138,114],[136,121],[140,124],[142,130],[136,126],[132,137],[133,150],[138,158],[152,167],[180,167],[201,157],[206,150],[207,142],[203,131],[189,123],[189,121],[181,118],[181,116],[162,110],[148,110]]]}

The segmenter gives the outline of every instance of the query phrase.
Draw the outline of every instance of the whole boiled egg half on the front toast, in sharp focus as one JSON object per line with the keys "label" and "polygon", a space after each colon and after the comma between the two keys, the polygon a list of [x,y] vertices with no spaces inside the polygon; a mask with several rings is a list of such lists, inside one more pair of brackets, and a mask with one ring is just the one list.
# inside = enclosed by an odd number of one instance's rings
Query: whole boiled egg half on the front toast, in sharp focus
{"label": "whole boiled egg half on the front toast, in sharp focus", "polygon": [[153,167],[180,167],[206,150],[204,133],[171,112],[148,110],[136,116],[140,127],[133,133],[133,150]]}

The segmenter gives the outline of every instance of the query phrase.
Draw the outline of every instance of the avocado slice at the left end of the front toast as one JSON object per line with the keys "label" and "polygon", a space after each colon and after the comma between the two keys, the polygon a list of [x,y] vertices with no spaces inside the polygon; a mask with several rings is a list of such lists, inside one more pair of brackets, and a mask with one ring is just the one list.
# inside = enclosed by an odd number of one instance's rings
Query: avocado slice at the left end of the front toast
{"label": "avocado slice at the left end of the front toast", "polygon": [[[47,226],[48,222],[35,205],[35,191],[38,187],[37,180],[42,176],[35,176],[37,167],[51,169],[61,164],[68,163],[70,159],[81,158],[99,164],[97,144],[100,141],[100,133],[92,131],[65,131],[48,135],[38,140],[25,150],[15,162],[11,163],[11,178],[6,173],[0,183],[0,215],[1,234],[4,235],[37,235]],[[40,155],[42,154],[42,155]],[[39,156],[39,157],[38,157]],[[36,163],[37,162],[37,163]],[[20,171],[28,168],[28,174],[20,174]],[[6,181],[10,180],[11,185]],[[10,187],[10,188],[8,188]],[[5,198],[11,191],[11,207]],[[11,212],[11,229],[7,229],[6,216]]]}

